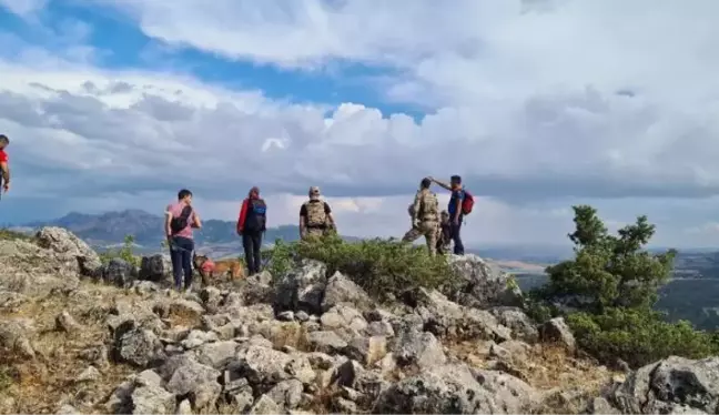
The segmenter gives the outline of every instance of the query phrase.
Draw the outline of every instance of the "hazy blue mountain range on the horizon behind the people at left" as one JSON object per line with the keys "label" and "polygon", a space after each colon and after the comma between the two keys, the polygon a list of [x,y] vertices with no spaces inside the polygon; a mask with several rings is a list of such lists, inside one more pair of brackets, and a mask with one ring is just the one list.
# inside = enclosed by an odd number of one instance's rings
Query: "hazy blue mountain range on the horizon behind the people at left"
{"label": "hazy blue mountain range on the horizon behind the people at left", "polygon": [[[55,220],[31,222],[14,227],[27,231],[42,226],[65,227],[99,250],[121,244],[125,235],[132,235],[136,250],[149,253],[162,249],[161,243],[164,240],[162,224],[163,217],[160,215],[141,210],[124,210],[101,214],[72,212]],[[277,239],[290,242],[296,241],[298,236],[298,226],[282,225],[267,229],[264,242],[272,244]],[[199,252],[236,253],[241,249],[234,221],[204,220],[202,221],[202,230],[195,231],[194,239]],[[360,240],[353,236],[343,236],[343,239],[348,241]]]}

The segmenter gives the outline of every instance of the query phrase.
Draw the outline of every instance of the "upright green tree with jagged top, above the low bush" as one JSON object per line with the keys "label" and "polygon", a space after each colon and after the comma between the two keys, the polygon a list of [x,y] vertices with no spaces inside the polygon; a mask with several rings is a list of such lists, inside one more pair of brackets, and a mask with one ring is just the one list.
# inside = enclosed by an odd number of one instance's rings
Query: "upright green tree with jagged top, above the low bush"
{"label": "upright green tree with jagged top, above the low bush", "polygon": [[573,206],[576,230],[568,236],[575,259],[547,267],[548,297],[581,297],[581,308],[602,313],[610,307],[650,308],[657,290],[669,281],[675,250],[651,254],[645,250],[655,233],[647,216],[638,216],[611,235],[597,211]]}

